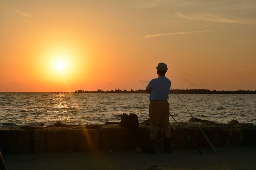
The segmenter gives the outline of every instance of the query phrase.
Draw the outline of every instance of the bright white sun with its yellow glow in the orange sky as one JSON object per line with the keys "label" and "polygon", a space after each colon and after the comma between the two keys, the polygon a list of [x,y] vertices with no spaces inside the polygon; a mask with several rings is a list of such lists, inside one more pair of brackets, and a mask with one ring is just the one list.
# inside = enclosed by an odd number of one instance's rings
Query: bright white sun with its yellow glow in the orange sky
{"label": "bright white sun with its yellow glow in the orange sky", "polygon": [[80,53],[68,50],[68,47],[45,50],[38,58],[38,77],[50,83],[74,82],[80,77],[81,65],[85,63],[78,62],[84,61],[80,59]]}

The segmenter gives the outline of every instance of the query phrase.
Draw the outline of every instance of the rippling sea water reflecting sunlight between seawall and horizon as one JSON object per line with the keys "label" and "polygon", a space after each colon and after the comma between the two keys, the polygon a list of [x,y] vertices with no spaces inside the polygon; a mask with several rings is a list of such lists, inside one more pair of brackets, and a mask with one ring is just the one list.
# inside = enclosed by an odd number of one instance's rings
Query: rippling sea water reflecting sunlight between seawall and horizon
{"label": "rippling sea water reflecting sunlight between seawall and horizon", "polygon": [[[190,113],[216,123],[236,119],[256,125],[256,95],[177,94]],[[170,113],[177,122],[191,116],[176,94],[169,95]],[[148,94],[0,93],[0,127],[61,122],[67,125],[120,122],[123,113],[149,119]],[[175,123],[170,117],[170,122]]]}

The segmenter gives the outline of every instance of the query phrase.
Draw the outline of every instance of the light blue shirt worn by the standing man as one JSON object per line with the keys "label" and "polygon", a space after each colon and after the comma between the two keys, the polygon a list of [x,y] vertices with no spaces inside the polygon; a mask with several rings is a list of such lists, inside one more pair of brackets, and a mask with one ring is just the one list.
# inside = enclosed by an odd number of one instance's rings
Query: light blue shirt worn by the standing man
{"label": "light blue shirt worn by the standing man", "polygon": [[160,76],[156,79],[152,79],[147,87],[147,90],[151,90],[149,100],[167,100],[169,99],[169,93],[171,89],[171,81],[165,76]]}

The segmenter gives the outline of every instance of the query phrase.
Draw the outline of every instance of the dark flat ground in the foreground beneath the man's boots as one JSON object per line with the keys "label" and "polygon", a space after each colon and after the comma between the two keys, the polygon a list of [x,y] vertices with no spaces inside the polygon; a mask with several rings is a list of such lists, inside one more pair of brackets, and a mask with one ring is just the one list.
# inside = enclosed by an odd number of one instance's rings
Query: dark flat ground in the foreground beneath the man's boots
{"label": "dark flat ground in the foreground beneath the man's boots", "polygon": [[[196,150],[176,149],[173,153],[156,150],[120,152],[63,152],[4,155],[8,170],[254,170],[256,145]],[[151,164],[157,167],[152,167]]]}

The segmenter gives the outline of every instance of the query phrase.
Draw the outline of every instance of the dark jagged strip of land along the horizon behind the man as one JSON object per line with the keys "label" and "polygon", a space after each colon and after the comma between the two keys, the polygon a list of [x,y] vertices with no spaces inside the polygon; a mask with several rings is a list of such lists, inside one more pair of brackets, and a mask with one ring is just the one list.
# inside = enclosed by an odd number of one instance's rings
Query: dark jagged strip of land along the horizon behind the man
{"label": "dark jagged strip of land along the horizon behind the man", "polygon": [[[115,89],[110,91],[103,91],[102,89],[98,89],[97,91],[87,91],[87,90],[76,90],[74,93],[145,93],[145,90],[121,90]],[[249,90],[236,90],[236,91],[216,91],[216,90],[208,90],[208,89],[172,89],[170,93],[178,93],[178,94],[256,94],[256,91]]]}

